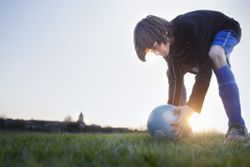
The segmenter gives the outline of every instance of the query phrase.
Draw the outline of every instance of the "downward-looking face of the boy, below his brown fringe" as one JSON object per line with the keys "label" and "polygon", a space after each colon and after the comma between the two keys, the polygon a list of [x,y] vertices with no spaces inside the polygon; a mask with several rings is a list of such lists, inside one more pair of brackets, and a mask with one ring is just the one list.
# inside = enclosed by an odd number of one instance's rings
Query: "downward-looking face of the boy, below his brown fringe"
{"label": "downward-looking face of the boy, below his brown fringe", "polygon": [[159,56],[162,57],[167,57],[169,55],[169,50],[170,50],[170,42],[167,42],[166,44],[164,43],[154,43],[153,48],[151,49],[151,51]]}

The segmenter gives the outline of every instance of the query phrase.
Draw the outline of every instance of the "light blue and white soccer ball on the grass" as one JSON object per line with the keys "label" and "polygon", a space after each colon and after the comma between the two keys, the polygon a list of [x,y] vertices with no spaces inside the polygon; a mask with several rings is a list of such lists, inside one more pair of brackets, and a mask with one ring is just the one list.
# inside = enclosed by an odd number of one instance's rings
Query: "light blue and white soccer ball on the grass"
{"label": "light blue and white soccer ball on the grass", "polygon": [[173,114],[174,109],[175,106],[167,104],[158,106],[151,112],[147,127],[152,137],[177,139],[171,126],[178,119],[178,115]]}

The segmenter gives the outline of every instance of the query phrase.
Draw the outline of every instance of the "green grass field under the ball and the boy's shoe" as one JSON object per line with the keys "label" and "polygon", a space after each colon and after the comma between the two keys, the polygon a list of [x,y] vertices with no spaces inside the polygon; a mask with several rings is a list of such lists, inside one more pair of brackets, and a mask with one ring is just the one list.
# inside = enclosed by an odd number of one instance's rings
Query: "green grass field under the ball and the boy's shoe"
{"label": "green grass field under the ball and the boy's shoe", "polygon": [[147,133],[52,134],[0,131],[0,166],[250,166],[250,141],[196,133],[180,141]]}

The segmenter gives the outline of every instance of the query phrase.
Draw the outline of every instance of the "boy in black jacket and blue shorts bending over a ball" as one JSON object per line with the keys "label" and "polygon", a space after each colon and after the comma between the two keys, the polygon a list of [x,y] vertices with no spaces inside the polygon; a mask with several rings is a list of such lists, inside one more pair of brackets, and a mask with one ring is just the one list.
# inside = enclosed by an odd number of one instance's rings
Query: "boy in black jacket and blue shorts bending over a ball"
{"label": "boy in black jacket and blue shorts bending over a ball", "polygon": [[[229,63],[229,55],[240,38],[239,23],[217,11],[192,11],[171,22],[150,15],[137,23],[134,45],[139,59],[145,61],[146,54],[152,51],[167,61],[168,104],[176,105],[175,114],[179,114],[173,124],[177,136],[186,134],[190,129],[188,118],[201,111],[213,70],[229,120],[226,139],[238,141],[248,137],[239,90]],[[187,72],[196,78],[186,102],[183,77]]]}

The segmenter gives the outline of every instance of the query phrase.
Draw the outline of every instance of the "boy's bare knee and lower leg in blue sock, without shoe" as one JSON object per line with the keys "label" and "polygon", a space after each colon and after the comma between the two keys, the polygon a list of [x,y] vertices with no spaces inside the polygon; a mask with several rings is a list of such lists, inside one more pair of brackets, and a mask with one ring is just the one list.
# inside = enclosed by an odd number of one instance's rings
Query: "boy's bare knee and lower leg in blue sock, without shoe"
{"label": "boy's bare knee and lower leg in blue sock, without shoe", "polygon": [[244,126],[238,86],[234,74],[225,60],[224,49],[217,45],[212,46],[210,57],[216,67],[214,72],[219,85],[220,97],[229,119],[229,127]]}

